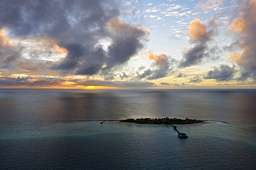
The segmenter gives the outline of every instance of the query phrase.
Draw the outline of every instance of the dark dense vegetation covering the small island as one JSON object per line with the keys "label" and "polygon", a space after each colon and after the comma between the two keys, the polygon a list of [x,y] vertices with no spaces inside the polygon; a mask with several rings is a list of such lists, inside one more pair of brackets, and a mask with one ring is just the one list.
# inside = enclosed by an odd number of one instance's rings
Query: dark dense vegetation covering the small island
{"label": "dark dense vegetation covering the small island", "polygon": [[186,119],[180,119],[180,118],[129,118],[126,120],[120,120],[120,122],[126,122],[126,123],[139,123],[139,124],[165,124],[165,125],[171,125],[171,124],[194,124],[194,123],[202,123],[202,120],[193,120],[190,118]]}

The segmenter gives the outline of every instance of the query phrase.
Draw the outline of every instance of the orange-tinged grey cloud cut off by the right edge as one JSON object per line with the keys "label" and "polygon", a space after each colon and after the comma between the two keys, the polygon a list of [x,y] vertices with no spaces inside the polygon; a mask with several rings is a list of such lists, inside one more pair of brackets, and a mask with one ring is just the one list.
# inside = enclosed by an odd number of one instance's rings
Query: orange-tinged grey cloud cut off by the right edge
{"label": "orange-tinged grey cloud cut off by the right edge", "polygon": [[244,72],[256,71],[256,1],[239,1],[239,18],[232,21],[228,31],[234,34],[235,41],[228,47],[227,50],[237,50],[240,52],[232,52],[230,59],[233,62],[239,63],[244,69]]}

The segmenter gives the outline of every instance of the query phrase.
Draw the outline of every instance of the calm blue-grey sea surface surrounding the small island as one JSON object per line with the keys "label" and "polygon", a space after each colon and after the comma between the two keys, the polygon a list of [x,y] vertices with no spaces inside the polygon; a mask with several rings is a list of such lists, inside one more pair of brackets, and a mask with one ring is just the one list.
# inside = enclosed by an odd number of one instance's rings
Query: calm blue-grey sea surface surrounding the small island
{"label": "calm blue-grey sea surface surrounding the small island", "polygon": [[[145,117],[230,124],[100,124]],[[256,90],[0,89],[0,169],[256,169]]]}

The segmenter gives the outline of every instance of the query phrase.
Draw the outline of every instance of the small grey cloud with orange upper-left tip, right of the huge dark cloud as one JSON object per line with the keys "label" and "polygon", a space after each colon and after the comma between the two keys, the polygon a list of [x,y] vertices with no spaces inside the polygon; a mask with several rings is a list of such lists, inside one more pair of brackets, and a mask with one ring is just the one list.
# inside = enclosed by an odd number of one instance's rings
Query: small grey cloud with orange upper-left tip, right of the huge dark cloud
{"label": "small grey cloud with orange upper-left tip, right of the huge dark cloud", "polygon": [[147,69],[143,74],[139,74],[137,78],[147,78],[147,80],[154,80],[158,78],[163,78],[167,76],[172,71],[172,64],[175,63],[175,60],[166,54],[153,54],[150,50],[147,51],[147,56],[149,60],[154,61],[152,67],[154,69]]}

